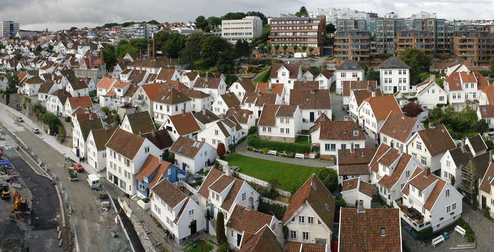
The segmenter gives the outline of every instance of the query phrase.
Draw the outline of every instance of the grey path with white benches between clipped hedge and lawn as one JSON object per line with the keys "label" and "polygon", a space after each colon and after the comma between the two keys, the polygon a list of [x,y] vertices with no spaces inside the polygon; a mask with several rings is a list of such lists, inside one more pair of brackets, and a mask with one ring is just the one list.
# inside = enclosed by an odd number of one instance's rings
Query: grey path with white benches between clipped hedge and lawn
{"label": "grey path with white benches between clipped hedge and lawn", "polygon": [[240,155],[264,159],[264,160],[282,162],[282,163],[298,164],[298,165],[305,165],[312,167],[334,166],[333,161],[326,161],[319,159],[288,158],[288,157],[265,155],[265,154],[259,154],[257,152],[251,152],[247,150],[247,140],[244,140],[239,146],[235,147],[235,151]]}

